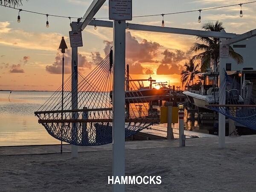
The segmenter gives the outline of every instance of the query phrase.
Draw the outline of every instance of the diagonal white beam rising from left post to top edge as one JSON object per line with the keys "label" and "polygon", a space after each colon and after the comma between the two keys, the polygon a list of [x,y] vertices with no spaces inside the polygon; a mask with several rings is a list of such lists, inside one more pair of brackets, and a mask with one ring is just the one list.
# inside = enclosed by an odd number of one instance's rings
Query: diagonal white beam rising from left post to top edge
{"label": "diagonal white beam rising from left post to top edge", "polygon": [[82,19],[79,21],[79,30],[84,30],[84,28],[88,25],[88,23],[90,23],[94,15],[99,11],[105,1],[106,0],[93,0],[93,2],[90,4],[89,8],[85,12],[84,17],[82,17]]}

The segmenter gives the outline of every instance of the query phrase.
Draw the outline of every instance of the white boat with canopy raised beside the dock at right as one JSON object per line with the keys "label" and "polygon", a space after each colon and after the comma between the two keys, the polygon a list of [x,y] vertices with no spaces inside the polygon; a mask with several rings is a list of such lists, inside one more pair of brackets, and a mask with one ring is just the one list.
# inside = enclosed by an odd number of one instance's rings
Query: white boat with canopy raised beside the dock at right
{"label": "white boat with canopy raised beside the dock at right", "polygon": [[[192,105],[198,108],[207,108],[206,105],[218,104],[219,103],[219,88],[218,88],[218,72],[206,72],[198,73],[201,83],[199,85],[199,90],[193,86],[187,90],[183,91],[189,99]],[[244,99],[239,95],[239,90],[231,89],[227,94],[230,94],[233,99],[236,100],[237,104],[243,104]],[[230,104],[230,101],[226,101]],[[209,108],[207,108],[209,109]]]}

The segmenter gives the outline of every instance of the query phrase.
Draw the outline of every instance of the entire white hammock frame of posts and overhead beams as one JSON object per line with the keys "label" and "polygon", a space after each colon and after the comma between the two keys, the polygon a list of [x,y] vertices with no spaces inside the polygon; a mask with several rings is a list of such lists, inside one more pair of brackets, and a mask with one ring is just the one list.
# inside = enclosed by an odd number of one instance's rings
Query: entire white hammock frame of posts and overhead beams
{"label": "entire white hammock frame of posts and overhead beams", "polygon": [[[78,22],[72,22],[72,31],[83,31],[86,26],[99,26],[113,28],[113,176],[125,175],[125,31],[139,30],[146,32],[161,32],[180,35],[194,35],[203,37],[220,38],[221,44],[230,45],[247,38],[256,36],[256,29],[236,35],[226,32],[211,32],[193,29],[180,29],[172,27],[150,26],[129,23],[129,29],[126,29],[125,21],[114,20],[96,20],[93,17],[102,7],[106,0],[93,0],[89,8]],[[220,58],[220,69],[224,68],[225,58]],[[75,73],[73,73],[75,72]],[[78,82],[78,48],[72,47],[72,109],[77,109],[77,82]],[[224,80],[224,71],[220,73],[220,82]],[[225,90],[220,90],[220,93]],[[225,98],[219,102],[224,105]],[[225,116],[219,114],[219,147],[225,146]],[[77,157],[77,146],[72,145],[72,156]],[[113,191],[124,192],[124,185],[114,185]]]}

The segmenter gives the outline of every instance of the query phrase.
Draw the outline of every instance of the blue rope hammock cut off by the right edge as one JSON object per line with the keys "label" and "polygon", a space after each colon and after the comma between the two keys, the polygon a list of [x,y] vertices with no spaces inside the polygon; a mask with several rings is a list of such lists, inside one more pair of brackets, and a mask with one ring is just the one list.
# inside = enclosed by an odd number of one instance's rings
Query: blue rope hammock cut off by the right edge
{"label": "blue rope hammock cut off by the right edge", "polygon": [[[256,96],[252,94],[248,96],[250,90],[245,85],[242,85],[242,91],[248,92],[242,98],[241,91],[239,91],[241,84],[235,78],[232,79],[228,76],[227,73],[225,73],[224,81],[221,82],[220,89],[224,88],[224,86],[226,87],[225,105],[209,106],[209,108],[247,128],[256,130]],[[219,99],[221,98],[224,98],[224,94],[219,96]]]}

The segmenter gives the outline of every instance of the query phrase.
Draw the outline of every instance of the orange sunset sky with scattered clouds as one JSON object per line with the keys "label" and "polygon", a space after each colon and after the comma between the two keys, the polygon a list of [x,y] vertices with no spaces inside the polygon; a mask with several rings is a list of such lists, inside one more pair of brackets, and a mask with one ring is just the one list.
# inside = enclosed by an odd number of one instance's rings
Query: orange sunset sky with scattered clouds
{"label": "orange sunset sky with scattered clouds", "polygon": [[[92,0],[28,0],[21,9],[52,15],[82,17]],[[134,0],[133,15],[150,15],[203,9],[246,3],[250,0]],[[239,17],[240,6],[201,12],[202,23],[220,20],[226,32],[237,34],[256,28],[256,3],[242,6],[244,17]],[[61,55],[58,46],[61,36],[70,48],[67,18],[20,12],[0,6],[0,90],[56,90],[61,85]],[[108,17],[108,0],[96,17]],[[166,15],[165,26],[201,29],[198,12]],[[75,20],[73,20],[75,21]],[[130,23],[160,26],[161,16],[134,18]],[[79,47],[79,71],[88,74],[109,53],[113,29],[92,26],[82,32],[83,45]],[[180,85],[180,71],[191,57],[193,36],[153,32],[126,32],[126,62],[130,64],[133,79],[148,78],[170,81]],[[71,49],[65,54],[65,71],[70,73]],[[68,74],[65,75],[67,77]]]}

